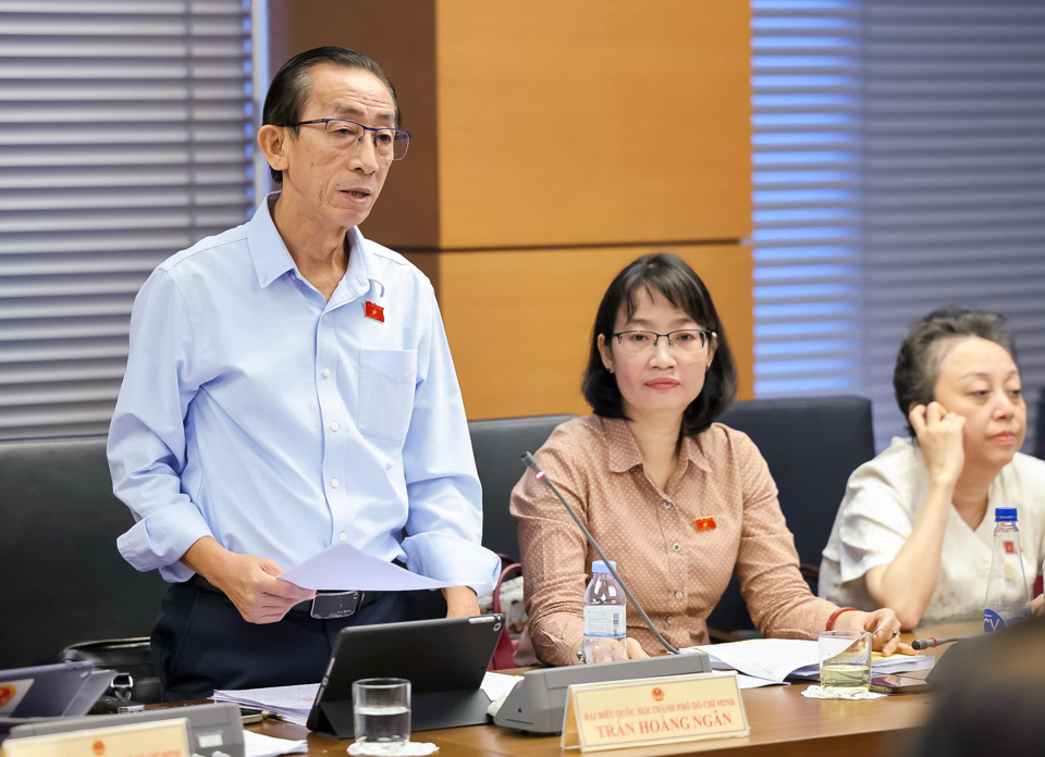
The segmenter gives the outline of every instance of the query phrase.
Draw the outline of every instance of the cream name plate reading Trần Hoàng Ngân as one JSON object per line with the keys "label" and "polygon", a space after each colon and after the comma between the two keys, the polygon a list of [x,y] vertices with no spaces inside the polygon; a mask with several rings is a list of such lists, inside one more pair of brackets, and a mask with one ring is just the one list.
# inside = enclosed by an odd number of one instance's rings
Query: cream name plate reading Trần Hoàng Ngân
{"label": "cream name plate reading Tr\u1ea7n Ho\u00e0ng Ng\u00e2n", "polygon": [[696,673],[570,686],[562,746],[595,752],[750,732],[737,673]]}

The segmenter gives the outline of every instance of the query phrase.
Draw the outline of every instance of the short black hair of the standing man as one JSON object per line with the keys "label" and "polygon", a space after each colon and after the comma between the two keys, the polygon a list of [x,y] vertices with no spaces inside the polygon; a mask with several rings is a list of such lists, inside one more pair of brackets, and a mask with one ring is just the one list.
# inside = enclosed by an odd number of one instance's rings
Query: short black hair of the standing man
{"label": "short black hair of the standing man", "polygon": [[[402,115],[399,100],[395,96],[395,87],[392,86],[392,82],[389,80],[384,70],[361,52],[333,46],[306,50],[283,64],[283,67],[272,79],[272,84],[269,85],[269,94],[265,97],[265,108],[261,110],[261,124],[287,126],[300,121],[302,110],[305,108],[305,101],[308,100],[308,72],[312,66],[323,63],[339,65],[343,69],[358,69],[377,76],[381,84],[388,87],[389,94],[392,95],[392,103],[395,106],[395,126],[398,127]],[[291,126],[291,131],[296,136],[298,127]],[[275,171],[272,167],[269,171],[272,172],[273,182],[276,184],[283,183],[282,171]]]}

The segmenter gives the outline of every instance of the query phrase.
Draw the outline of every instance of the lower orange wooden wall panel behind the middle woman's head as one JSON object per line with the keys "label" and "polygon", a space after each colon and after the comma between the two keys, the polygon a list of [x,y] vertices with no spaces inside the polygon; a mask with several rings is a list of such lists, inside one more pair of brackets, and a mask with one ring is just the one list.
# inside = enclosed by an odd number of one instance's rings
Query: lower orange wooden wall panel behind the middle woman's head
{"label": "lower orange wooden wall panel behind the middle woman's head", "polygon": [[[648,248],[443,252],[440,308],[469,418],[588,412],[591,326],[616,273]],[[673,246],[701,275],[751,397],[751,251]]]}

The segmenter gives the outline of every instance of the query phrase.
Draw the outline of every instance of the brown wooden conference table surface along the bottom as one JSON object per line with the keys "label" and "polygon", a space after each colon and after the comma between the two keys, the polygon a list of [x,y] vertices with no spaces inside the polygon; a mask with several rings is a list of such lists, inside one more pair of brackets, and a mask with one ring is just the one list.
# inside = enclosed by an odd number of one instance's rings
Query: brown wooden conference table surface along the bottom
{"label": "brown wooden conference table surface along the bottom", "polygon": [[[920,628],[905,633],[903,641],[935,636],[945,638],[978,633],[978,622]],[[925,650],[938,657],[947,646]],[[910,673],[923,677],[925,671]],[[729,757],[779,755],[847,755],[871,757],[902,752],[911,732],[929,717],[932,693],[894,694],[877,699],[812,699],[802,696],[808,682],[764,686],[741,692],[751,727],[742,739],[717,739],[652,747],[613,749],[620,757],[659,755],[729,755]],[[309,755],[344,755],[351,740],[336,740],[293,723],[267,720],[251,730],[283,739],[308,740]],[[533,735],[496,725],[471,725],[415,732],[413,741],[439,745],[439,757],[513,755],[549,757],[564,753],[558,735]],[[570,749],[576,754],[577,750]]]}

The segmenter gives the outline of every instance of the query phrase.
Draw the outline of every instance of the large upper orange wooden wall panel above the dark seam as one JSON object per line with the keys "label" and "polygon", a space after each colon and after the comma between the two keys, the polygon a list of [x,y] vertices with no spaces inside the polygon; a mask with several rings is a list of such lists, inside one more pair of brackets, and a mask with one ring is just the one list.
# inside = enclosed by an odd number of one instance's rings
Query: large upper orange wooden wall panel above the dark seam
{"label": "large upper orange wooden wall panel above the dark seam", "polygon": [[437,3],[441,246],[738,240],[748,3]]}

